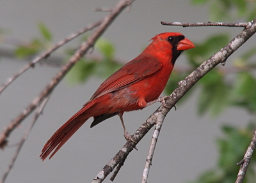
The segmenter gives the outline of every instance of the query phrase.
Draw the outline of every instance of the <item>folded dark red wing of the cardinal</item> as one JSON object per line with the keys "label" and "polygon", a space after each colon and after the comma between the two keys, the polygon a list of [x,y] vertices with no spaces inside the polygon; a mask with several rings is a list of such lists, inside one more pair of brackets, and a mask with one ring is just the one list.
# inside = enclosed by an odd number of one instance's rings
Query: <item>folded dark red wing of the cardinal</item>
{"label": "folded dark red wing of the cardinal", "polygon": [[105,82],[103,82],[99,89],[93,94],[91,99],[99,98],[100,96],[109,92],[117,91],[134,84],[139,80],[156,73],[161,68],[162,64],[152,56],[139,55],[136,59],[125,64],[120,70],[111,75]]}

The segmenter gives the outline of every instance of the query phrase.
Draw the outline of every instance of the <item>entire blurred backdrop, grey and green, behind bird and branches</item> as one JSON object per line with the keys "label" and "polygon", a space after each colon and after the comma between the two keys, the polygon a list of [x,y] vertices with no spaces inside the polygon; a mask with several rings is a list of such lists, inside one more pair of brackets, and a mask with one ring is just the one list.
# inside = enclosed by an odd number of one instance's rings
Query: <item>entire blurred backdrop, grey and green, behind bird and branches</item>
{"label": "entire blurred backdrop, grey and green, behind bird and branches", "polygon": [[[118,1],[0,1],[0,84],[36,54],[82,27],[100,20]],[[95,51],[56,87],[43,115],[29,134],[6,182],[91,182],[125,143],[118,117],[90,129],[88,120],[52,157],[39,158],[51,135],[91,98],[106,77],[134,59],[159,33],[180,32],[196,48],[182,54],[163,95],[179,80],[232,40],[243,28],[171,27],[167,22],[246,22],[256,15],[255,1],[135,1],[97,42]],[[60,70],[90,33],[68,43],[19,77],[0,96],[0,129],[24,110]],[[239,48],[225,66],[218,66],[186,94],[166,116],[148,182],[234,182],[238,163],[255,129],[255,36]],[[159,106],[124,114],[133,134]],[[8,168],[17,142],[32,115],[13,131],[0,152],[0,176]],[[1,132],[0,131],[0,132]],[[140,182],[153,130],[138,143],[115,182]],[[255,182],[255,156],[247,182]],[[105,182],[111,182],[110,176]]]}

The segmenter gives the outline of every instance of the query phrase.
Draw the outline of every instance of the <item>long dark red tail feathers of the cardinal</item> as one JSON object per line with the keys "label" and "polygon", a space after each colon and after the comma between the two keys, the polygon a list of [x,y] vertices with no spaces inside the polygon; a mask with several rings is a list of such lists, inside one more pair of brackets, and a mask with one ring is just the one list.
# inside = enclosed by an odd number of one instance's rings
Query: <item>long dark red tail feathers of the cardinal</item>
{"label": "long dark red tail feathers of the cardinal", "polygon": [[[42,154],[40,158],[42,161],[45,160],[49,154],[51,159],[54,154],[62,147],[62,145],[67,142],[67,140],[79,129],[84,122],[86,122],[91,116],[86,115],[86,110],[93,106],[93,103],[87,103],[84,107],[79,110],[75,115],[73,115],[63,126],[61,126],[52,136],[51,138],[45,143],[44,148],[42,149]],[[84,113],[85,112],[85,113]]]}

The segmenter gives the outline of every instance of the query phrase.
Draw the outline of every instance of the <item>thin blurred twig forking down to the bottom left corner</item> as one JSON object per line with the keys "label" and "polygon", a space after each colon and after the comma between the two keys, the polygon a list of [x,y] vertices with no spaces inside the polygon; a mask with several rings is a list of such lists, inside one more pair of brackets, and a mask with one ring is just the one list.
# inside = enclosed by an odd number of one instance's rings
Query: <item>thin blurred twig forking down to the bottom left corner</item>
{"label": "thin blurred twig forking down to the bottom left corner", "polygon": [[40,106],[37,107],[37,110],[36,110],[36,113],[35,113],[35,116],[33,117],[33,120],[31,121],[31,124],[28,128],[28,130],[26,131],[26,133],[24,133],[24,135],[22,136],[22,138],[20,139],[20,142],[18,143],[18,147],[17,147],[17,150],[15,152],[15,154],[13,155],[12,157],[12,161],[10,162],[6,172],[4,172],[4,175],[3,175],[3,178],[1,180],[1,183],[4,183],[7,176],[9,175],[10,171],[12,170],[13,168],[13,165],[17,159],[17,157],[19,156],[19,152],[22,148],[22,146],[24,145],[25,141],[27,140],[28,138],[28,135],[29,133],[31,132],[31,129],[33,128],[34,124],[36,123],[36,120],[38,119],[39,115],[43,112],[44,110],[44,107],[47,103],[47,101],[49,100],[50,96],[48,96],[47,98],[44,99],[44,101],[41,103]]}

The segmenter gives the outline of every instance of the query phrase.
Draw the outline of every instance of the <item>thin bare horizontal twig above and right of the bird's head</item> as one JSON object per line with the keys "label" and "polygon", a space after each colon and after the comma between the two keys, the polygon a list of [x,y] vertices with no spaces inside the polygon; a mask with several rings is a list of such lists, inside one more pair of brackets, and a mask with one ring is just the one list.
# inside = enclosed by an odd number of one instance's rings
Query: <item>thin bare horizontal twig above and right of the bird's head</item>
{"label": "thin bare horizontal twig above and right of the bird's head", "polygon": [[223,27],[244,27],[250,28],[252,22],[243,23],[225,23],[225,22],[197,22],[197,23],[182,23],[182,22],[161,22],[164,26],[182,26],[182,27],[199,27],[199,26],[223,26]]}

